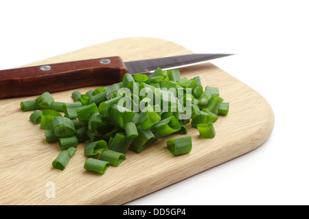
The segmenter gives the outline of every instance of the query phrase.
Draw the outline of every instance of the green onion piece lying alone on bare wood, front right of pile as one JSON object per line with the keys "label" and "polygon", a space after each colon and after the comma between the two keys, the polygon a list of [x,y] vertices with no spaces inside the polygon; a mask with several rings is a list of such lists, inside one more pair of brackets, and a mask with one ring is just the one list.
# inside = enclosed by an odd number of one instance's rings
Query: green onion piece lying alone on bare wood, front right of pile
{"label": "green onion piece lying alone on bare wood, front right of pile", "polygon": [[186,135],[184,137],[170,139],[166,143],[166,146],[174,156],[187,154],[192,150],[192,137],[191,135]]}

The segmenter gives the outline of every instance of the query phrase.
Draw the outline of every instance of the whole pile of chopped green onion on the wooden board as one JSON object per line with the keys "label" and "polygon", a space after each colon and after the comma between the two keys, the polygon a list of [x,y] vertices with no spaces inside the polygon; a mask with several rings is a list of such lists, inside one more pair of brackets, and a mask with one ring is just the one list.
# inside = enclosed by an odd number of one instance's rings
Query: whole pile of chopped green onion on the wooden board
{"label": "whole pile of chopped green onion on the wooden board", "polygon": [[46,141],[58,142],[60,154],[52,162],[58,170],[66,168],[80,143],[86,146],[84,169],[99,174],[120,165],[128,150],[142,152],[169,135],[184,136],[166,139],[167,150],[187,154],[192,150],[187,124],[211,139],[218,116],[229,112],[217,87],[204,89],[199,76],[181,78],[179,70],[126,73],[122,82],[71,95],[70,103],[55,102],[49,92],[21,102],[22,111],[34,111],[30,120],[45,130]]}

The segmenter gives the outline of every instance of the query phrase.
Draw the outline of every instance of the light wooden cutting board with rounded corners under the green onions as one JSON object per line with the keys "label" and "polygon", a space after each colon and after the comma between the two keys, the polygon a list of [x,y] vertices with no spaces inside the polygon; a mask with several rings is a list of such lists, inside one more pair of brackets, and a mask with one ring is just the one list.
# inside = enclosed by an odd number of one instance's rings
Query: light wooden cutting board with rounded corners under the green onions
{"label": "light wooden cutting board with rounded corners under the green onions", "polygon": [[[131,61],[183,54],[192,51],[157,38],[124,38],[30,65],[104,56]],[[65,170],[52,168],[60,152],[58,143],[47,143],[40,126],[30,122],[32,112],[22,112],[19,106],[21,101],[36,96],[0,100],[0,204],[122,205],[250,152],[271,135],[273,111],[259,93],[211,62],[180,70],[181,77],[201,76],[204,86],[218,87],[220,96],[230,103],[229,114],[220,116],[214,124],[216,137],[200,137],[198,130],[187,124],[188,135],[192,135],[189,154],[172,155],[166,141],[182,135],[171,135],[158,139],[139,154],[128,151],[126,160],[118,167],[110,166],[104,175],[84,170],[83,143]],[[86,93],[93,88],[78,90]],[[55,101],[73,102],[72,92],[52,95]]]}

